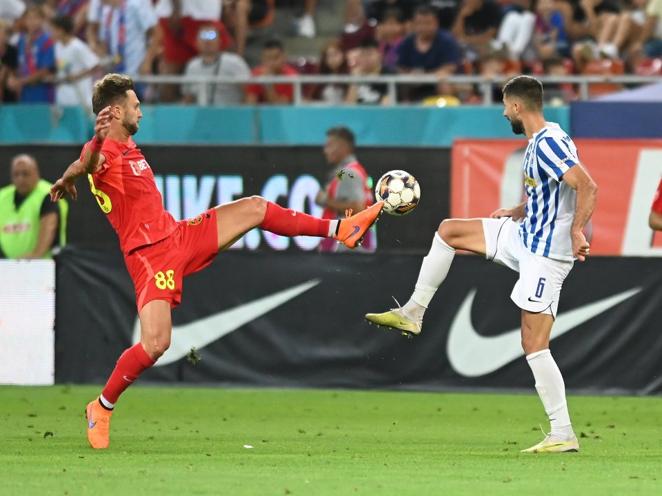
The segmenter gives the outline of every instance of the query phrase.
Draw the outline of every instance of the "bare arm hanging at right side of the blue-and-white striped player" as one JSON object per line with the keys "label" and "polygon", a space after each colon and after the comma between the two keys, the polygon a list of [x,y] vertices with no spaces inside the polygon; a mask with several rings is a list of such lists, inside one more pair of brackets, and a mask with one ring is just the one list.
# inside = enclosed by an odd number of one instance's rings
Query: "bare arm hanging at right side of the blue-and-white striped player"
{"label": "bare arm hanging at right side of the blue-and-white striped player", "polygon": [[598,194],[598,186],[589,176],[581,163],[576,163],[565,174],[563,174],[565,183],[577,192],[576,207],[574,209],[574,221],[570,229],[572,236],[572,254],[577,260],[583,262],[588,255],[590,245],[586,240],[582,229],[588,224],[588,220],[593,214],[595,199]]}

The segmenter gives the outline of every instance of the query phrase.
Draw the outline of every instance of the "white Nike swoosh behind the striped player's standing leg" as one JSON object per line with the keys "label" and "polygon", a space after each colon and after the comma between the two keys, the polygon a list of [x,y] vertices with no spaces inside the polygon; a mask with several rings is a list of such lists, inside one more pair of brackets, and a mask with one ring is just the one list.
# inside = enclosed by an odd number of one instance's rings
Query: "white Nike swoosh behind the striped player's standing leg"
{"label": "white Nike swoosh behind the striped player's standing leg", "polygon": [[[629,289],[609,298],[556,316],[550,340],[571,331],[583,322],[600,315],[611,307],[639,293],[641,288]],[[511,329],[496,336],[483,336],[471,322],[471,307],[476,296],[472,289],[462,302],[448,333],[446,353],[454,371],[465,377],[487,375],[524,355],[521,347],[521,329]]]}

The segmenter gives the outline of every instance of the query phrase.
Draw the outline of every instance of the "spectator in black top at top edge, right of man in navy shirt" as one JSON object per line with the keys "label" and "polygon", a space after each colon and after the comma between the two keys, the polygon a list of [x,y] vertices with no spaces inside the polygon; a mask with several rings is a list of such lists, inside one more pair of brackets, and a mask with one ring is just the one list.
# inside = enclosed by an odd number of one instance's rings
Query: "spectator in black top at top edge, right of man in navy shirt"
{"label": "spectator in black top at top edge, right of man in navy shirt", "polygon": [[462,0],[452,34],[471,62],[488,52],[501,23],[501,6],[495,0]]}

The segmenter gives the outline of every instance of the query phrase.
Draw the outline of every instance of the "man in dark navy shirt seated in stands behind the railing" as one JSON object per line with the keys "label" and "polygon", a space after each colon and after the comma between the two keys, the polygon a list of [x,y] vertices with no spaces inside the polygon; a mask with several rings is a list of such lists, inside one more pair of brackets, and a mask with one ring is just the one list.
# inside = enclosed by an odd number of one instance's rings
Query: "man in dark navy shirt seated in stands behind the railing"
{"label": "man in dark navy shirt seated in stands behind the railing", "polygon": [[[414,33],[398,48],[398,70],[403,74],[435,74],[444,79],[454,74],[461,63],[460,47],[452,35],[439,29],[437,12],[430,6],[420,6],[414,13]],[[428,96],[445,94],[434,85],[410,85],[403,98],[420,101]]]}

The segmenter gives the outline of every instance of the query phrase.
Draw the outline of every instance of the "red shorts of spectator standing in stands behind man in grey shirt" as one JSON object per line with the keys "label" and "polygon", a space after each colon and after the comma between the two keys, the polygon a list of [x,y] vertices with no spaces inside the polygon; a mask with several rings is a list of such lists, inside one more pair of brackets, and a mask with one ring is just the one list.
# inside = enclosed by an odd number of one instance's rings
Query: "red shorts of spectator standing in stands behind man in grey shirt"
{"label": "red shorts of spectator standing in stands behind man in grey shirt", "polygon": [[221,50],[232,45],[232,37],[221,21],[197,21],[190,17],[181,18],[180,32],[170,29],[167,18],[159,19],[163,30],[163,59],[166,62],[184,65],[198,54],[198,32],[203,25],[213,24],[219,30]]}

